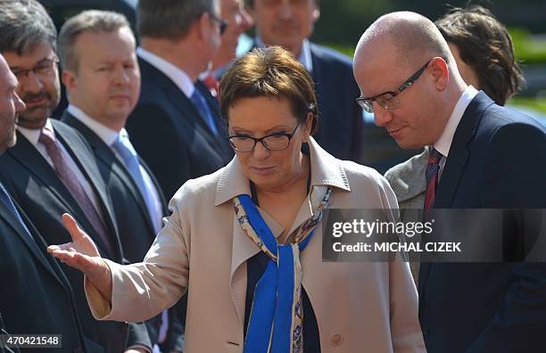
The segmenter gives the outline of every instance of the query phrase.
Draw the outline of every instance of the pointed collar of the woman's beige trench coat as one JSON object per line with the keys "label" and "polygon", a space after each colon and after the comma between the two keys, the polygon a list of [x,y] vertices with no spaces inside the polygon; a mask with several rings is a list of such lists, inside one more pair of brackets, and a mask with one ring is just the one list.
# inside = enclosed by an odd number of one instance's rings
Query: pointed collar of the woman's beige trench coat
{"label": "pointed collar of the woman's beige trench coat", "polygon": [[[332,155],[324,151],[315,140],[309,139],[311,187],[318,185],[335,186],[351,191],[345,170]],[[250,195],[250,181],[243,173],[243,168],[235,157],[219,173],[214,205],[218,206],[240,194]]]}

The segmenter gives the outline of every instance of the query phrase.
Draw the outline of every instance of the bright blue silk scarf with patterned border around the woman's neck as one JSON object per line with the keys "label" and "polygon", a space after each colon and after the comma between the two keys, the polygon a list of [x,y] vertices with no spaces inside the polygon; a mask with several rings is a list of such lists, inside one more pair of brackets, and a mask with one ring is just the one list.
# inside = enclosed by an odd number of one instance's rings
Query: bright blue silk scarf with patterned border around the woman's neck
{"label": "bright blue silk scarf with patterned border around the woman's neck", "polygon": [[310,193],[312,216],[294,231],[294,243],[279,244],[249,195],[233,199],[236,218],[244,234],[269,257],[256,284],[244,353],[302,353],[302,264],[315,226],[327,208],[332,189],[314,186]]}

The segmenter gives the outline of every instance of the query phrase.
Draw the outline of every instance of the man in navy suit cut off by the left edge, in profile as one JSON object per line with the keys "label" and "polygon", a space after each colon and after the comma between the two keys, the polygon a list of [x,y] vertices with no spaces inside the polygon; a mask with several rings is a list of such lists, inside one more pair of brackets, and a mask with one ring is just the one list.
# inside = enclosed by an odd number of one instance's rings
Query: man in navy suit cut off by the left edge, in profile
{"label": "man in navy suit cut off by the left edge, in profile", "polygon": [[[15,145],[15,123],[25,109],[17,86],[0,54],[0,154]],[[61,334],[58,351],[85,352],[70,283],[46,247],[0,183],[0,333]],[[13,351],[19,350],[0,344],[0,352]]]}

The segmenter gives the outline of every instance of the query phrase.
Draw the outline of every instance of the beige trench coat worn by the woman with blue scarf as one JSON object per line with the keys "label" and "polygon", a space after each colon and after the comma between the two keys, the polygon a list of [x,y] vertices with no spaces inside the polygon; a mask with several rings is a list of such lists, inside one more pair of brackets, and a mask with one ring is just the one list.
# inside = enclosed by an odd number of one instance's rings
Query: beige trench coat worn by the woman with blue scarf
{"label": "beige trench coat worn by the woman with blue scarf", "polygon": [[[176,162],[173,160],[173,162]],[[335,209],[397,207],[383,176],[336,160],[310,141],[311,185],[330,185]],[[246,260],[259,250],[242,232],[231,199],[249,193],[235,158],[214,174],[189,180],[170,201],[170,218],[144,262],[112,269],[112,307],[86,283],[100,320],[143,321],[175,304],[188,290],[187,353],[242,352]],[[262,212],[276,236],[283,229]],[[311,216],[304,201],[292,232]],[[322,262],[322,227],[302,251],[303,287],[315,311],[320,347],[327,352],[423,352],[418,298],[409,267],[389,262]]]}

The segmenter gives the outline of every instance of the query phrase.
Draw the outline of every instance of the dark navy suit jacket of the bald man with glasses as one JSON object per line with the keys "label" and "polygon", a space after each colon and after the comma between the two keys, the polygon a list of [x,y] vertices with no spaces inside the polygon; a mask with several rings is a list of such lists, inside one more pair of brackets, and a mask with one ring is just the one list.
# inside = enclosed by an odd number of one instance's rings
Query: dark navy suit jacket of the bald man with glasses
{"label": "dark navy suit jacket of the bald man with glasses", "polygon": [[[545,129],[480,92],[453,137],[434,209],[546,209],[544,160]],[[520,228],[508,235],[510,249],[525,241]],[[546,263],[423,263],[418,284],[428,352],[544,351]]]}

